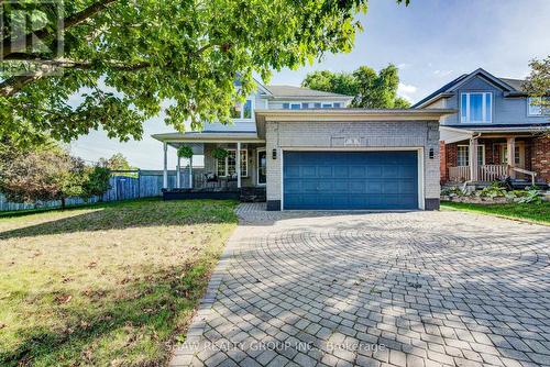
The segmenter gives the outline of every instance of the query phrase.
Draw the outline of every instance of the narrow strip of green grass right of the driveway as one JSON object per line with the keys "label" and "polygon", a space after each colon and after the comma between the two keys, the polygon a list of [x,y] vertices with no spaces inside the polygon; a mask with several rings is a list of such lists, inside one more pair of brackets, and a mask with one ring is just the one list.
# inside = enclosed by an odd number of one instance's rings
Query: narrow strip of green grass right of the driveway
{"label": "narrow strip of green grass right of the driveway", "polygon": [[548,201],[544,201],[541,204],[509,203],[509,204],[491,204],[491,205],[443,201],[441,202],[441,208],[491,214],[508,219],[520,219],[542,224],[550,224],[550,202]]}

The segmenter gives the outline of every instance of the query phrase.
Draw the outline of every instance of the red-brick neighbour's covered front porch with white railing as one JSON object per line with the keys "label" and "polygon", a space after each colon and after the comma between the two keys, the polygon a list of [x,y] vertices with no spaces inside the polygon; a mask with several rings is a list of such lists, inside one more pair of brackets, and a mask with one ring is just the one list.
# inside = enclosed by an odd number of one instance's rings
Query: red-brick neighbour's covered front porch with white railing
{"label": "red-brick neighbour's covered front porch with white railing", "polygon": [[510,178],[518,185],[546,184],[532,134],[457,135],[442,142],[441,181],[486,184]]}

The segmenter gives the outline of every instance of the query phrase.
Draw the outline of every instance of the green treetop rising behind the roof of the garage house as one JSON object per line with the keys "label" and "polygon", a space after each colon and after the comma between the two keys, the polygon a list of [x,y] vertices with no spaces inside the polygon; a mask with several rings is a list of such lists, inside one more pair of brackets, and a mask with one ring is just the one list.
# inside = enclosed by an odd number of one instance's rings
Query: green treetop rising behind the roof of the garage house
{"label": "green treetop rising behind the roof of the garage house", "polygon": [[397,97],[399,70],[393,64],[380,70],[361,66],[353,73],[314,71],[301,82],[304,87],[353,96],[351,107],[367,109],[406,109],[410,103]]}

